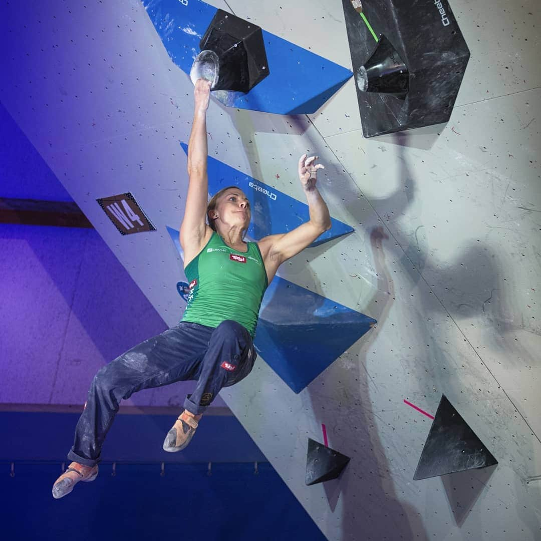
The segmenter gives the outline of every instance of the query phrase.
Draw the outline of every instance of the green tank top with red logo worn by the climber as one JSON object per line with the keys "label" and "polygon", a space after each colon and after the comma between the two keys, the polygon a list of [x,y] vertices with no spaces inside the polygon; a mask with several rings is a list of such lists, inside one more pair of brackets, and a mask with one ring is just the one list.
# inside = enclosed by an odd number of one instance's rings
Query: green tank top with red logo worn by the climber
{"label": "green tank top with red logo worn by the climber", "polygon": [[268,286],[256,242],[248,242],[248,252],[237,252],[213,232],[184,273],[190,293],[182,321],[217,327],[232,319],[255,337],[261,300]]}

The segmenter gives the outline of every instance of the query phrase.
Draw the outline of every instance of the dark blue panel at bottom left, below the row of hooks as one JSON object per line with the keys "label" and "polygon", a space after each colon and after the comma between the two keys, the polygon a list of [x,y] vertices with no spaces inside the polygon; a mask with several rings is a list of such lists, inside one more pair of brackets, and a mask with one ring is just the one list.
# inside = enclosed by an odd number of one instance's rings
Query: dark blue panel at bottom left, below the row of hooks
{"label": "dark blue panel at bottom left, below the row of hooks", "polygon": [[60,500],[56,464],[0,464],[2,538],[149,541],[206,539],[325,541],[272,466],[254,463],[103,464],[97,479]]}

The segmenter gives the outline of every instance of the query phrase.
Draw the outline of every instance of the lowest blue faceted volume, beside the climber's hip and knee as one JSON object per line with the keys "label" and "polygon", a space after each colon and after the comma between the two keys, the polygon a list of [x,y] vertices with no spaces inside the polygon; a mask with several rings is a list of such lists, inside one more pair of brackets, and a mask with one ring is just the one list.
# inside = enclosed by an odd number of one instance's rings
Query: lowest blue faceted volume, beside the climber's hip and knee
{"label": "lowest blue faceted volume, beside the climber's hip and knee", "polygon": [[[183,258],[179,231],[172,227],[167,230]],[[181,295],[182,286],[187,288],[188,284],[177,285]],[[254,345],[285,384],[299,393],[375,322],[275,276],[263,296]]]}

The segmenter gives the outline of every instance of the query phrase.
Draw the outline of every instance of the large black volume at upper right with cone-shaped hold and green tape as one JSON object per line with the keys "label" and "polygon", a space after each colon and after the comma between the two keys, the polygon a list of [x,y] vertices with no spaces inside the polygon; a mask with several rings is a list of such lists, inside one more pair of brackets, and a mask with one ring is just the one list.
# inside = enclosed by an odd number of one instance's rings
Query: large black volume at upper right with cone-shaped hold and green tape
{"label": "large black volume at upper right with cone-shaped hold and green tape", "polygon": [[447,0],[342,8],[364,136],[447,122],[470,58]]}

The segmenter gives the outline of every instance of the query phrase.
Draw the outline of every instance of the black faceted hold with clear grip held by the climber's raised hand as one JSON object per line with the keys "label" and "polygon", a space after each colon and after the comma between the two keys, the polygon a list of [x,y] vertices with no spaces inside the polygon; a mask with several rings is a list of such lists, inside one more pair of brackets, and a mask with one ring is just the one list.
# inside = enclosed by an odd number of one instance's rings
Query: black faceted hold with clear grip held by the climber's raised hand
{"label": "black faceted hold with clear grip held by the climber's raised hand", "polygon": [[212,90],[247,93],[269,75],[261,27],[227,11],[216,11],[199,45],[190,75],[212,81]]}

